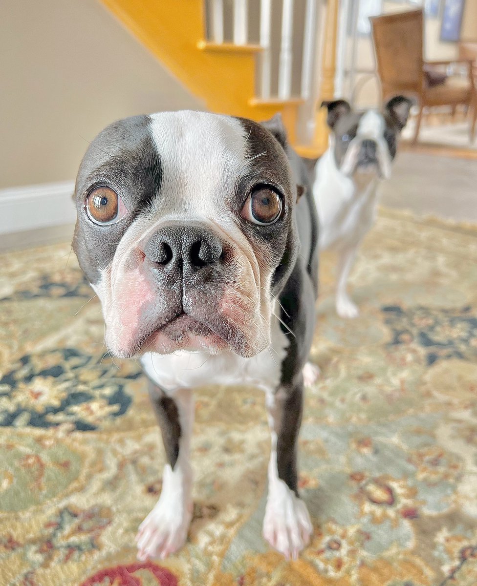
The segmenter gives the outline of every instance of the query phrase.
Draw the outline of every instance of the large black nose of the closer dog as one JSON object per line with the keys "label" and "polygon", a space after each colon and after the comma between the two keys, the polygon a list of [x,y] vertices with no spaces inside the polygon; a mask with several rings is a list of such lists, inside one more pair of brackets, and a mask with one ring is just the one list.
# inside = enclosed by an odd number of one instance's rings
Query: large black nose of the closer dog
{"label": "large black nose of the closer dog", "polygon": [[211,231],[190,224],[166,226],[157,231],[144,247],[151,263],[168,270],[195,272],[215,264],[222,255],[222,244]]}

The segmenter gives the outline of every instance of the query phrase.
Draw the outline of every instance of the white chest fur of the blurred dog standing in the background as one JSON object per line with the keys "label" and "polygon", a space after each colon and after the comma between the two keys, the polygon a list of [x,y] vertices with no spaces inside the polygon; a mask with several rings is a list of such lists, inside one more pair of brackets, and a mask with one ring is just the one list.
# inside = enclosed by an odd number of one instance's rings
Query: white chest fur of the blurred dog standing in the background
{"label": "white chest fur of the blurred dog standing in the background", "polygon": [[370,229],[378,180],[341,173],[329,148],[316,167],[313,196],[320,219],[320,249],[355,246]]}

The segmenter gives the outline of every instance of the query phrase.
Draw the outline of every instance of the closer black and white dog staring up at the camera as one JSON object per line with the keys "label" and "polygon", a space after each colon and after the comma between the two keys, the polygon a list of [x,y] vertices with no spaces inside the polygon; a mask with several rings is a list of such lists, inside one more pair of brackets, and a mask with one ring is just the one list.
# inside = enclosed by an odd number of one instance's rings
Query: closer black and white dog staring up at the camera
{"label": "closer black and white dog staring up at the camera", "polygon": [[75,196],[73,247],[102,302],[107,347],[141,357],[167,455],[138,557],[163,558],[187,539],[192,393],[211,383],[265,391],[263,535],[296,557],[312,534],[296,452],[318,234],[281,121],[182,111],[115,122],[87,150]]}

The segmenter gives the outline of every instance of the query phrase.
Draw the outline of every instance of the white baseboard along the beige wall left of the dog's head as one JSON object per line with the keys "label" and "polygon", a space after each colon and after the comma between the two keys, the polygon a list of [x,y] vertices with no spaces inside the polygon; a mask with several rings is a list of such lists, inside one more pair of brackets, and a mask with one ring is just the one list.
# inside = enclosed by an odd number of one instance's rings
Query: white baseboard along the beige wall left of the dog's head
{"label": "white baseboard along the beige wall left of the dog's head", "polygon": [[75,182],[0,189],[0,234],[74,224]]}

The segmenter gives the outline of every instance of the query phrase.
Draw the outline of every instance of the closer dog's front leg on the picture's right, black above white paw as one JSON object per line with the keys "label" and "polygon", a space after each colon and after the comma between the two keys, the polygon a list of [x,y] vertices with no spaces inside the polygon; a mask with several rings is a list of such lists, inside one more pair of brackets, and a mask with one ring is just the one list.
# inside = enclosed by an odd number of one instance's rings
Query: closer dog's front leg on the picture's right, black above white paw
{"label": "closer dog's front leg on the picture's right, black above white paw", "polygon": [[298,496],[297,441],[303,406],[303,379],[266,396],[272,451],[268,465],[268,499],[263,537],[286,558],[296,559],[309,543],[312,522]]}

